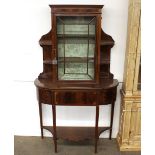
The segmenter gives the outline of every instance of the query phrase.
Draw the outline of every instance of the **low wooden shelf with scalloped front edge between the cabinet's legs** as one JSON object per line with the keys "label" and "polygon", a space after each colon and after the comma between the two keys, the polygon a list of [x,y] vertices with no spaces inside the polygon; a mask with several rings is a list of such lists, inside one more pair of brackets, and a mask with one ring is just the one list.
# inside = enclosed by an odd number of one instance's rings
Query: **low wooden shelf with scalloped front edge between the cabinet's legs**
{"label": "low wooden shelf with scalloped front edge between the cabinet's legs", "polygon": [[[53,134],[52,126],[43,126],[44,129],[48,130]],[[109,130],[110,127],[99,127],[99,135]],[[80,141],[85,139],[95,138],[95,127],[56,127],[57,138],[71,140],[71,141]]]}

